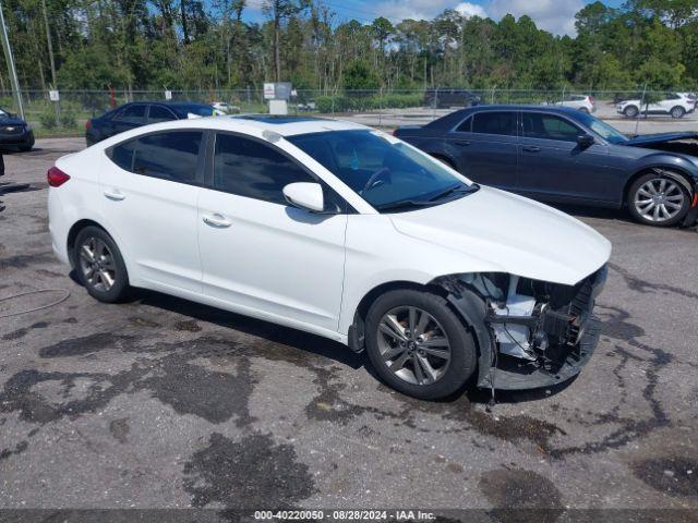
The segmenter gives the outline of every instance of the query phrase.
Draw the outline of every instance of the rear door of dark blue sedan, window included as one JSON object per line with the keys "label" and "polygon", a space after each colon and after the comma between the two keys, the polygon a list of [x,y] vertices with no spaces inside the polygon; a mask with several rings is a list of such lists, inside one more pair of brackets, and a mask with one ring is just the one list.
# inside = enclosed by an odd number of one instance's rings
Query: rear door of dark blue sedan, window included
{"label": "rear door of dark blue sedan, window included", "polygon": [[516,111],[476,112],[450,133],[449,139],[459,151],[465,175],[494,187],[516,188]]}

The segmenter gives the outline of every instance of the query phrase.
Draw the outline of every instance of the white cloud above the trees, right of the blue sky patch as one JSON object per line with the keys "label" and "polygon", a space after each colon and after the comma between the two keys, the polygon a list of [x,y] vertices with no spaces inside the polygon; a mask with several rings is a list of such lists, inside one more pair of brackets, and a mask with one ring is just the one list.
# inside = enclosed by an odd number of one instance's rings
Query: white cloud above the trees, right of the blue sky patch
{"label": "white cloud above the trees, right of the blue sky patch", "polygon": [[575,14],[583,5],[582,0],[490,0],[488,12],[495,20],[506,14],[517,19],[527,14],[541,29],[555,35],[574,35]]}

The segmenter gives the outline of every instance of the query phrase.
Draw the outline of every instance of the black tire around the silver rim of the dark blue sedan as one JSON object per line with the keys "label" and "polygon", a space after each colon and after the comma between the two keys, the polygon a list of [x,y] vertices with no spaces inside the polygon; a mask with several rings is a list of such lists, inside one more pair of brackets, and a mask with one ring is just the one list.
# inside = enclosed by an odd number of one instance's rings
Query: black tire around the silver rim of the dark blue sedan
{"label": "black tire around the silver rim of the dark blue sedan", "polygon": [[[678,175],[678,174],[676,174]],[[651,196],[647,196],[648,191],[643,193],[640,192],[641,188],[646,187],[648,183],[653,183],[653,185],[661,184],[661,181],[664,180],[666,187],[675,187],[666,191],[664,193],[665,197],[670,200],[667,205],[665,205],[665,209],[671,208],[671,212],[676,211],[670,218],[664,219],[652,219],[653,218],[653,207],[645,210],[647,207],[645,204],[637,204],[637,202],[649,202]],[[683,196],[683,198],[678,199],[678,194]],[[630,216],[635,219],[635,221],[652,227],[673,227],[679,223],[686,216],[686,214],[690,210],[690,195],[686,191],[686,188],[677,182],[675,179],[663,174],[662,172],[649,172],[639,177],[630,187],[627,193],[626,204],[628,206],[628,211]],[[647,204],[650,205],[650,204]],[[671,206],[679,205],[681,208],[672,208]],[[652,212],[650,212],[650,210]]]}

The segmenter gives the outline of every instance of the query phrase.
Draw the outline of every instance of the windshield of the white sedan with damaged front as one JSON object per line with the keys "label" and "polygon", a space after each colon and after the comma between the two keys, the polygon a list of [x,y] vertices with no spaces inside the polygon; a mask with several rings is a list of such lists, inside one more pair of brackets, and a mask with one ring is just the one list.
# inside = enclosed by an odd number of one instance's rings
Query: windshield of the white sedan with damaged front
{"label": "windshield of the white sedan with damaged front", "polygon": [[437,160],[377,131],[329,131],[287,139],[381,211],[438,205],[478,188]]}

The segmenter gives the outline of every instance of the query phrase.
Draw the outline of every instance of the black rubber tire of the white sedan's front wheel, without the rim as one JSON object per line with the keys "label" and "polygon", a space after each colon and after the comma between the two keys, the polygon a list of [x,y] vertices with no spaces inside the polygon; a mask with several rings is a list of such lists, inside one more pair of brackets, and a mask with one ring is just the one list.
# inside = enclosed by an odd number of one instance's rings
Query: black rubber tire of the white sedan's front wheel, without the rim
{"label": "black rubber tire of the white sedan's front wheel, without the rim", "polygon": [[[428,327],[424,327],[425,333],[430,335],[426,342],[434,339],[432,335],[434,337],[441,337],[441,335],[443,335],[447,340],[450,357],[442,370],[443,374],[432,382],[409,382],[390,370],[388,364],[382,356],[382,354],[386,352],[381,352],[381,345],[384,345],[384,350],[385,346],[387,346],[387,351],[400,351],[397,346],[397,338],[386,337],[386,335],[380,331],[380,326],[385,315],[393,311],[401,309],[402,307],[414,307],[422,314],[425,312],[428,316],[431,316],[430,321],[434,320],[434,323],[428,324],[432,327],[431,331],[426,331]],[[421,317],[421,315],[419,317]],[[418,329],[416,328],[414,331],[418,331]],[[438,335],[434,335],[434,332],[438,332]],[[388,339],[395,342],[393,348],[387,345]],[[422,342],[424,342],[424,340]],[[417,342],[412,342],[410,352],[420,352],[419,346]],[[408,349],[405,349],[400,355],[396,354],[395,360],[390,363],[395,363],[396,360],[406,355],[407,352],[405,351],[407,350]],[[461,319],[448,307],[446,300],[426,291],[410,289],[388,291],[371,305],[366,315],[366,353],[373,368],[387,385],[404,394],[420,400],[438,400],[458,392],[472,376],[477,366],[474,340]],[[422,358],[426,357],[430,360],[434,366],[443,363],[441,358],[434,360],[434,356],[424,355],[421,352],[420,354]],[[412,377],[417,377],[417,373],[411,370],[411,368],[413,368],[412,364],[417,364],[414,360],[416,354],[412,354],[410,357],[411,360],[408,358],[398,369],[408,374],[411,373],[410,375]],[[432,364],[430,364],[430,367],[432,367]]]}

